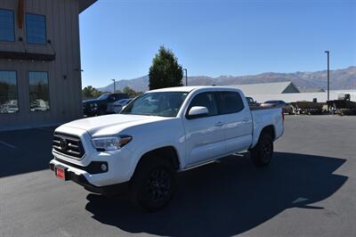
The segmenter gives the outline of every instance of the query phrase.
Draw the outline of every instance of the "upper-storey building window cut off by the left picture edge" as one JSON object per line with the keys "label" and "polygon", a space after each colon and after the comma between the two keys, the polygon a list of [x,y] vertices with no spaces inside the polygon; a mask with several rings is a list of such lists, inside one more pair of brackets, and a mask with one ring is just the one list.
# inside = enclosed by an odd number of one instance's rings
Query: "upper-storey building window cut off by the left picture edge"
{"label": "upper-storey building window cut off by the left picture edge", "polygon": [[15,41],[13,12],[0,9],[0,40]]}

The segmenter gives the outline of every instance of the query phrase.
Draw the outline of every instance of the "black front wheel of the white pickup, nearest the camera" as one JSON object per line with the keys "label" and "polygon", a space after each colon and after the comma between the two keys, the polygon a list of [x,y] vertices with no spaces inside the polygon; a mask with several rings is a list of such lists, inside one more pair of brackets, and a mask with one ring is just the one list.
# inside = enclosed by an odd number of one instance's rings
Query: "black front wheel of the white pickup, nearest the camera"
{"label": "black front wheel of the white pickup, nearest the camera", "polygon": [[144,159],[130,184],[130,201],[134,208],[155,212],[165,208],[175,192],[175,170],[166,159]]}

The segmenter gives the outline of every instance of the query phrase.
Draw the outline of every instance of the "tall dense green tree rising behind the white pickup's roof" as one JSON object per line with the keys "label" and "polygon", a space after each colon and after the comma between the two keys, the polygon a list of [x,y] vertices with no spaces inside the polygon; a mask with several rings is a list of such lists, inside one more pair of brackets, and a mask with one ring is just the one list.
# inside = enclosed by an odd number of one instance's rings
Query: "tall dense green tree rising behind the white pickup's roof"
{"label": "tall dense green tree rising behind the white pickup's roof", "polygon": [[174,53],[160,46],[150,66],[150,90],[182,86],[183,71]]}

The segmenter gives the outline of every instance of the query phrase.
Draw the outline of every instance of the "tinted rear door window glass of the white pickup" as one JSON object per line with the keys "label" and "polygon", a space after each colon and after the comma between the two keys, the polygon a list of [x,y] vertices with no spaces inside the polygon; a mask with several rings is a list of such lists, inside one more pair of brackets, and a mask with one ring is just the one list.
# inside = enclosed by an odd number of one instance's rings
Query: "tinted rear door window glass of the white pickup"
{"label": "tinted rear door window glass of the white pickup", "polygon": [[216,95],[220,114],[237,113],[245,108],[239,93],[221,92]]}

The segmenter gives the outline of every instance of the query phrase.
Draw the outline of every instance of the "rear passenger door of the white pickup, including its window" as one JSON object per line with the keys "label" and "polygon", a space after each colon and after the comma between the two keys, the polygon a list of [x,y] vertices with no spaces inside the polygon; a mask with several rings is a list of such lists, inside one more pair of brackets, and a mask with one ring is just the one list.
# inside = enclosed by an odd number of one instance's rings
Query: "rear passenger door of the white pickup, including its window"
{"label": "rear passenger door of the white pickup, including its window", "polygon": [[220,114],[224,116],[226,152],[245,151],[252,143],[253,120],[247,101],[239,92],[216,93]]}

